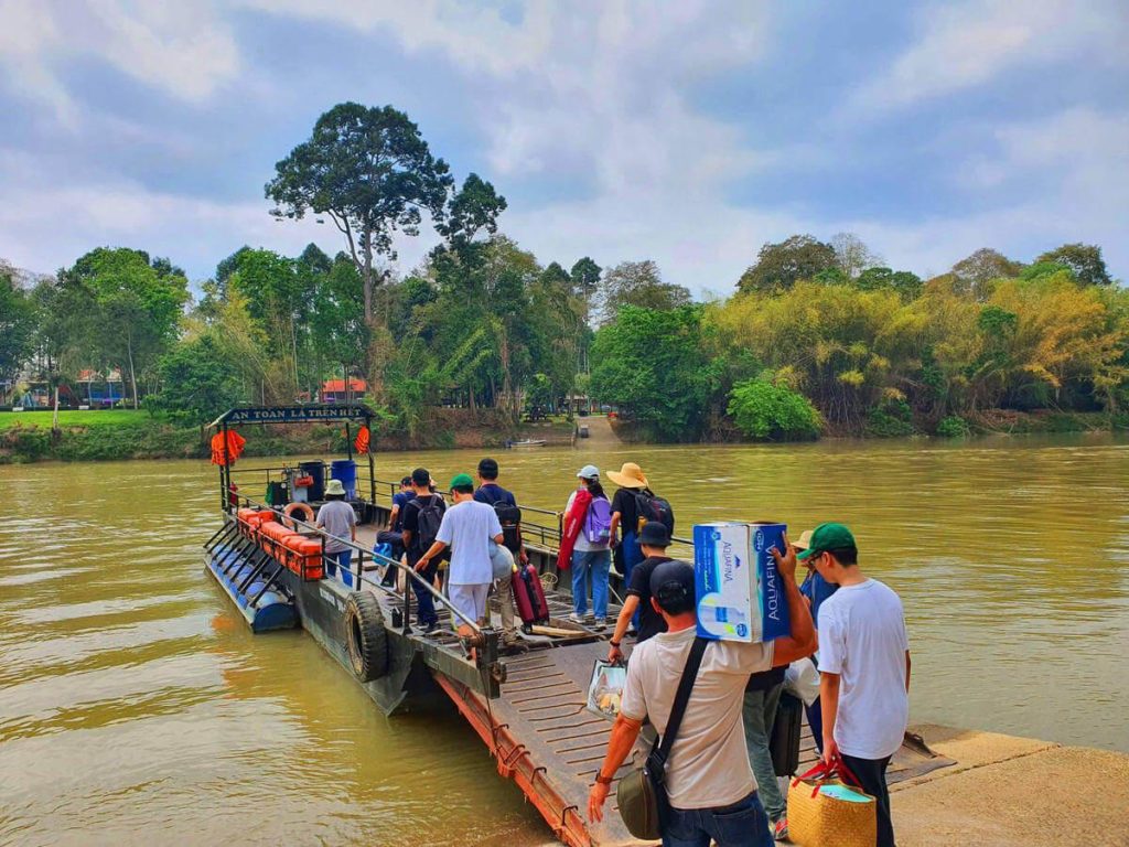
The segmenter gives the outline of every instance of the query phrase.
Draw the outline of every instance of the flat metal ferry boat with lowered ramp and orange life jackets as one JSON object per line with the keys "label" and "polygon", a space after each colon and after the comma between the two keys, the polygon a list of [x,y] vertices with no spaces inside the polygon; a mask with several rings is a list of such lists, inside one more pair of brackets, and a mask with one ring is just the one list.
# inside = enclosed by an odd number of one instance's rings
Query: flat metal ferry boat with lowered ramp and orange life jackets
{"label": "flat metal ferry boat with lowered ramp and orange life jackets", "polygon": [[[231,447],[242,442],[234,426],[312,421],[344,425],[347,459],[234,466]],[[523,632],[524,652],[502,655],[496,612],[479,627],[412,569],[375,552],[399,483],[377,479],[370,449],[358,464],[350,440],[356,424],[368,447],[371,412],[361,405],[240,407],[213,421],[222,523],[204,543],[207,571],[253,631],[301,627],[384,714],[452,701],[489,748],[498,772],[522,788],[562,844],[645,844],[632,838],[614,810],[599,823],[586,819],[588,789],[612,727],[607,717],[587,708],[587,689],[596,660],[607,655],[610,631],[568,620],[571,599],[557,587],[561,515],[522,506],[526,553],[542,575],[551,617],[548,627]],[[326,474],[341,480],[358,518],[357,541],[339,539],[353,550],[351,570],[333,576],[324,566],[325,535],[313,525]],[[252,491],[262,491],[262,499]],[[384,584],[390,568],[399,587]],[[429,635],[412,627],[413,582],[434,595],[444,625]],[[562,583],[568,587],[567,579]],[[610,609],[610,617],[618,611]],[[475,631],[482,646],[474,658],[464,652],[454,623]],[[616,777],[646,752],[640,739]],[[802,766],[815,758],[809,733],[802,757]],[[944,763],[924,746],[908,744],[892,762],[890,779]]]}

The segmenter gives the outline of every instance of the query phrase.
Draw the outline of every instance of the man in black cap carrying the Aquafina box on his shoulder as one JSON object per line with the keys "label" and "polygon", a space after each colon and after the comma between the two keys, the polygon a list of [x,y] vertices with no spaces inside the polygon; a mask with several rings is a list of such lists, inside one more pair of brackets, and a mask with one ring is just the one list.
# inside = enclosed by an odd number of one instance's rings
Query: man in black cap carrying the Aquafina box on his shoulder
{"label": "man in black cap carrying the Aquafina box on his shoulder", "polygon": [[[776,551],[788,600],[791,632],[770,644],[710,641],[690,693],[666,766],[671,809],[663,821],[664,847],[769,847],[772,836],[749,766],[741,721],[749,675],[787,665],[815,649],[812,615],[796,587],[796,556]],[[603,818],[615,771],[627,759],[645,717],[662,735],[674,706],[679,680],[697,635],[694,571],[666,561],[650,577],[650,603],[666,620],[659,632],[634,648],[628,664],[620,715],[607,754],[588,795],[588,819]]]}

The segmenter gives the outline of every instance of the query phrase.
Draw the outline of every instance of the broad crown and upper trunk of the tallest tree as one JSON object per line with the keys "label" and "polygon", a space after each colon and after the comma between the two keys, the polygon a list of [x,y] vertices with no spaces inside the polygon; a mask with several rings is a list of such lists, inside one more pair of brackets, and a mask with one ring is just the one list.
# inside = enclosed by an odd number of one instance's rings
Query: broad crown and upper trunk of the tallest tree
{"label": "broad crown and upper trunk of the tallest tree", "polygon": [[313,211],[333,220],[360,272],[365,322],[375,326],[374,294],[387,278],[375,260],[395,257],[396,230],[419,235],[423,212],[443,219],[452,186],[447,163],[431,155],[403,112],[341,103],[274,171],[265,186],[275,203],[271,213],[295,219]]}

